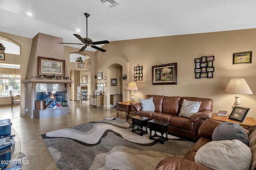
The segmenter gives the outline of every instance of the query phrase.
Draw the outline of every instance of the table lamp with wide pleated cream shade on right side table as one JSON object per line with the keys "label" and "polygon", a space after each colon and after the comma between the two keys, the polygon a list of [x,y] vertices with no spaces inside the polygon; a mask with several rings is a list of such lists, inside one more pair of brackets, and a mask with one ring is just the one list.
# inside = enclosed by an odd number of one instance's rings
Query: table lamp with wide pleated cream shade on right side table
{"label": "table lamp with wide pleated cream shade on right side table", "polygon": [[224,90],[224,93],[236,95],[234,96],[236,98],[235,103],[232,106],[232,108],[234,108],[235,106],[241,106],[240,94],[252,94],[252,90],[250,89],[244,78],[232,78],[228,83],[228,86]]}

